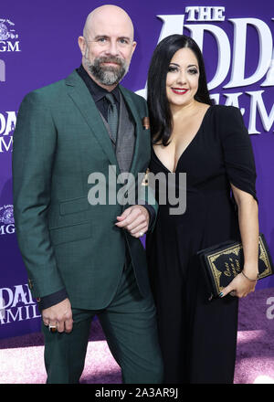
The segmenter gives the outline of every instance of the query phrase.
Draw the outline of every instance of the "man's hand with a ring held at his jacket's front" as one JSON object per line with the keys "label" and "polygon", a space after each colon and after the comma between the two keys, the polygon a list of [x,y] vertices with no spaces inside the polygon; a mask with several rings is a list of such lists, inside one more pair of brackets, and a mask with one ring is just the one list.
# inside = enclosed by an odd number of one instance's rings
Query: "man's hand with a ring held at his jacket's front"
{"label": "man's hand with a ring held at his jacket's front", "polygon": [[150,214],[144,206],[130,206],[117,220],[117,227],[127,229],[133,238],[141,238],[148,230]]}

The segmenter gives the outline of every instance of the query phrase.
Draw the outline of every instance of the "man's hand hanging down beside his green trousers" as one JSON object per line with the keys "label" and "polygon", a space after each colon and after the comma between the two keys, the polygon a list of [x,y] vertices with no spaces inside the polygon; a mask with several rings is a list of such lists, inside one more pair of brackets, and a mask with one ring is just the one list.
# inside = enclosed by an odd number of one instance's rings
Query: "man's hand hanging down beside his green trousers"
{"label": "man's hand hanging down beside his green trousers", "polygon": [[58,333],[70,333],[72,331],[72,312],[68,299],[55,304],[42,311],[43,322],[45,325],[56,325]]}

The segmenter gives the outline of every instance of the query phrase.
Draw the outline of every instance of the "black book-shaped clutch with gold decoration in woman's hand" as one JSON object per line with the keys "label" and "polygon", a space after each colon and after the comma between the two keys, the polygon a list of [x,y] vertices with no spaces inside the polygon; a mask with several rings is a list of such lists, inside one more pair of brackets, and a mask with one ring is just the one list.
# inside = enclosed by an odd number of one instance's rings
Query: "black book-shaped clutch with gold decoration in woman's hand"
{"label": "black book-shaped clutch with gold decoration in woman's hand", "polygon": [[[244,268],[243,246],[240,242],[227,241],[197,253],[207,282],[209,299],[219,293]],[[273,262],[264,235],[258,237],[258,280],[272,275]]]}

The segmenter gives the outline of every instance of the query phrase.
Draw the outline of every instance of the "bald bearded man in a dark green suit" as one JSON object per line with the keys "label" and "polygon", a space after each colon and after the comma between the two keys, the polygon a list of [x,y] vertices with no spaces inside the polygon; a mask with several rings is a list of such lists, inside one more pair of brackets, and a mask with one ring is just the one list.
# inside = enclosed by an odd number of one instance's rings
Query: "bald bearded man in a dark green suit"
{"label": "bald bearded man in a dark green suit", "polygon": [[[137,178],[151,153],[146,102],[119,85],[136,47],[133,35],[120,7],[95,9],[79,37],[79,69],[26,95],[17,116],[16,234],[42,315],[51,384],[79,382],[95,315],[122,381],[162,382],[140,240],[153,227],[156,206],[146,202],[147,190],[142,206],[113,202],[118,176]],[[105,202],[94,199],[94,177],[105,178]]]}

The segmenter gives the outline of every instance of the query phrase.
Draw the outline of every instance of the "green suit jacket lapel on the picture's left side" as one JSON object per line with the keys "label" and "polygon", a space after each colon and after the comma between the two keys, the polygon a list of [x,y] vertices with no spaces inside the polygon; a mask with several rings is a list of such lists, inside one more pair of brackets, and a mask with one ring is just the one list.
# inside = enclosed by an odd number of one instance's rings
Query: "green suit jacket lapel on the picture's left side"
{"label": "green suit jacket lapel on the picture's left side", "polygon": [[100,112],[90,95],[90,91],[84,81],[79,77],[77,71],[73,71],[68,76],[66,79],[66,85],[68,88],[68,96],[78,107],[84,120],[90,126],[91,132],[96,137],[98,143],[100,143],[103,152],[107,154],[111,164],[116,165],[116,174],[119,175],[120,169],[111,144],[109,133],[102,122]]}

